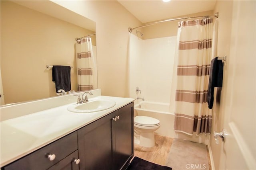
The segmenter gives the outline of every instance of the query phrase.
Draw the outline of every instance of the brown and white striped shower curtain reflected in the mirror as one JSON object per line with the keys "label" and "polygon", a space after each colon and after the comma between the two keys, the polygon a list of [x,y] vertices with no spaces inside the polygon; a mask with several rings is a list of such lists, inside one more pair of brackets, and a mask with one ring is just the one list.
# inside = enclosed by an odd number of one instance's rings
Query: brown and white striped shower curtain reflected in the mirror
{"label": "brown and white striped shower curtain reflected in the mirror", "polygon": [[91,38],[83,38],[76,43],[76,67],[78,91],[93,89],[95,65]]}

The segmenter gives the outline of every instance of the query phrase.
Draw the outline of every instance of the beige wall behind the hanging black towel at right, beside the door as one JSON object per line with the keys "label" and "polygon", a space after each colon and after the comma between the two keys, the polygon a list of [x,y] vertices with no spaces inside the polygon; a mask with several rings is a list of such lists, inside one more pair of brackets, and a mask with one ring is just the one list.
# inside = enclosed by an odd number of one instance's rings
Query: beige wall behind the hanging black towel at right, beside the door
{"label": "beige wall behind the hanging black towel at right, beside the door", "polygon": [[[217,1],[214,12],[219,12],[219,25],[218,25],[218,45],[217,45],[217,55],[224,56],[227,55],[228,61],[224,63],[223,70],[223,88],[221,91],[221,99],[220,104],[216,104],[216,100],[214,101],[214,107],[212,109],[212,135],[210,140],[210,145],[212,148],[212,154],[214,158],[215,169],[219,169],[220,164],[220,154],[221,154],[221,143],[220,145],[215,144],[215,139],[213,137],[213,131],[220,132],[223,129],[224,125],[224,107],[229,105],[228,96],[231,94],[227,94],[228,88],[228,78],[232,76],[228,75],[228,70],[231,67],[230,63],[230,38],[231,38],[231,24],[232,24],[232,1]],[[215,90],[216,91],[216,90]],[[216,93],[215,93],[216,95]],[[220,107],[221,106],[221,107]]]}

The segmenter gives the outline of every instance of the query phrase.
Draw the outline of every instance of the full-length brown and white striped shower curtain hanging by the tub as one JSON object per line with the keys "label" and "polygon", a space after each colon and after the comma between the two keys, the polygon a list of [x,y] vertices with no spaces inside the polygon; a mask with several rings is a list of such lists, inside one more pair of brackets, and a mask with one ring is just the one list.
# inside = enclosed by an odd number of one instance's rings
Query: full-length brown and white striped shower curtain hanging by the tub
{"label": "full-length brown and white striped shower curtain hanging by the tub", "polygon": [[181,21],[174,130],[188,135],[211,133],[212,112],[206,101],[213,19]]}

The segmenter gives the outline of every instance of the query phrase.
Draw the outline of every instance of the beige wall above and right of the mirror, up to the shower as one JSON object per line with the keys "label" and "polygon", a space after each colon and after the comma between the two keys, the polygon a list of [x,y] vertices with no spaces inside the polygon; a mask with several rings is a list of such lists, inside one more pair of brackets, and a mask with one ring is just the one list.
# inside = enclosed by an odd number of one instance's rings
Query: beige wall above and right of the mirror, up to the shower
{"label": "beige wall above and right of the mirror, up to the shower", "polygon": [[128,97],[128,27],[142,23],[117,1],[54,2],[96,22],[98,88]]}

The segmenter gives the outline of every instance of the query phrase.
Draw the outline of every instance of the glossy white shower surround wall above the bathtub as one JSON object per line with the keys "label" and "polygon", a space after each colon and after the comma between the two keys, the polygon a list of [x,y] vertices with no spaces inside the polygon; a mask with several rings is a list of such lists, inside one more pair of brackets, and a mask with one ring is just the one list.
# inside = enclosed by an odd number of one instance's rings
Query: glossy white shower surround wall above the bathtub
{"label": "glossy white shower surround wall above the bathtub", "polygon": [[[130,36],[130,97],[151,102],[170,102],[176,36],[139,39]],[[140,102],[140,101],[139,101]]]}

